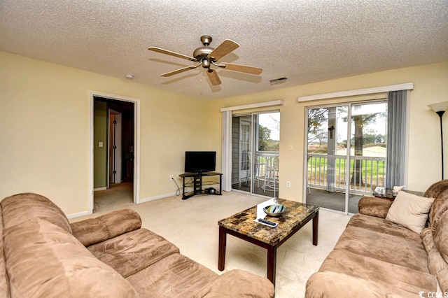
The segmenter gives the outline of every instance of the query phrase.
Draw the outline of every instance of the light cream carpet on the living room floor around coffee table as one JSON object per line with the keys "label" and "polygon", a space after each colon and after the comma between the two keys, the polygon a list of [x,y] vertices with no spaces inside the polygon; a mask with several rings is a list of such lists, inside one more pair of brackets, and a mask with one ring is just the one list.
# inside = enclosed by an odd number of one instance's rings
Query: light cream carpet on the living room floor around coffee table
{"label": "light cream carpet on the living room floor around coffee table", "polygon": [[[185,201],[181,197],[167,197],[134,205],[132,199],[130,202],[124,198],[120,202],[118,197],[116,194],[115,199],[112,197],[106,202],[107,196],[103,196],[97,202],[95,194],[95,213],[71,221],[96,217],[116,208],[132,208],[141,215],[143,227],[172,241],[183,255],[218,274],[223,273],[218,271],[218,220],[266,200],[238,192],[224,192],[223,196],[198,196]],[[309,222],[279,247],[276,264],[277,298],[304,297],[307,279],[319,269],[334,248],[349,218],[348,215],[321,210],[318,246],[312,245]],[[267,250],[228,235],[225,271],[231,269],[244,269],[267,276]]]}

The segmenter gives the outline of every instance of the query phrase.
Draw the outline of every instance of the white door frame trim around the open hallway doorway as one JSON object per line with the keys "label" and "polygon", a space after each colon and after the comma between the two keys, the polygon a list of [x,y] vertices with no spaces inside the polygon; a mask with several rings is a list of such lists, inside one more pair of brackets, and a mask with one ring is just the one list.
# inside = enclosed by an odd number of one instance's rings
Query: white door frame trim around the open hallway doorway
{"label": "white door frame trim around the open hallway doorway", "polygon": [[89,206],[88,213],[93,213],[93,204],[94,204],[94,196],[93,196],[93,150],[94,150],[94,97],[103,97],[106,99],[118,100],[118,101],[127,101],[132,102],[134,104],[134,204],[140,203],[140,99],[135,99],[132,97],[123,97],[116,94],[109,94],[98,91],[89,91],[89,152],[88,152],[88,168],[89,168],[89,182],[88,182],[88,198],[89,198]]}

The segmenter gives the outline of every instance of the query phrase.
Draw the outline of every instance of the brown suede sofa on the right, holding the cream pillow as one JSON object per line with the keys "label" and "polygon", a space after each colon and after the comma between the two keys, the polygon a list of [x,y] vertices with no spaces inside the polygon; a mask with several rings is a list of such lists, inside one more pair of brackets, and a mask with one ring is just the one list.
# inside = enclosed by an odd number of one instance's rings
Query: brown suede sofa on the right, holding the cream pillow
{"label": "brown suede sofa on the right, holding the cream pillow", "polygon": [[386,220],[402,211],[397,199],[360,199],[360,213],[310,276],[305,297],[448,297],[448,180],[431,185],[423,197],[435,199],[420,234],[402,226],[407,222]]}

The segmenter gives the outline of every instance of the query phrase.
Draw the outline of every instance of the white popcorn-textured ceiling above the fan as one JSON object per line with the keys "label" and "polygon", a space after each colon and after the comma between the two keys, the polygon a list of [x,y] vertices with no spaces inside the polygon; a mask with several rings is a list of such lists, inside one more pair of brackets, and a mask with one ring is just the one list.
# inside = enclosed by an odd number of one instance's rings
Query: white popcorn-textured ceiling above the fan
{"label": "white popcorn-textured ceiling above the fan", "polygon": [[[193,55],[200,36],[240,47],[219,62],[260,76],[202,67],[148,50]],[[448,60],[447,0],[0,0],[0,50],[219,99]],[[286,77],[286,83],[269,80]]]}

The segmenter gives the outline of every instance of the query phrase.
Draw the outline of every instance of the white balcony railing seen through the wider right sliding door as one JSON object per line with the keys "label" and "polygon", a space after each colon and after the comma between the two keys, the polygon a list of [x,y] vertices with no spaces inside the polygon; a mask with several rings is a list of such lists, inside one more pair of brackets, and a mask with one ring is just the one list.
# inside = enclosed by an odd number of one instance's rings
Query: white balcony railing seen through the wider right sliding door
{"label": "white balcony railing seen through the wider right sliding door", "polygon": [[385,177],[385,157],[352,156],[347,173],[344,155],[308,155],[309,187],[345,191],[348,178],[351,193],[371,194],[375,187],[384,187]]}

